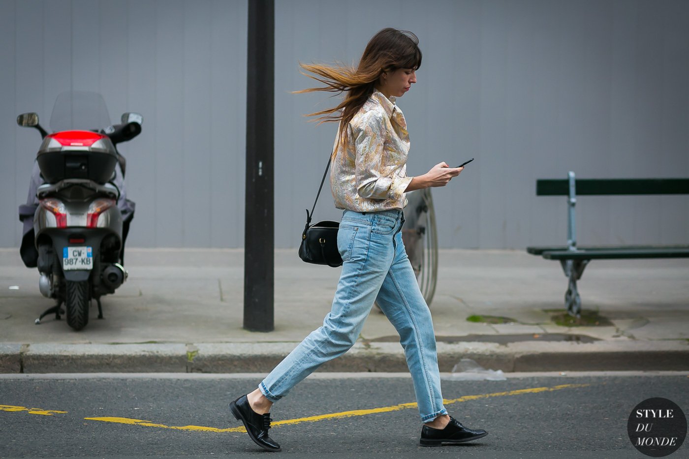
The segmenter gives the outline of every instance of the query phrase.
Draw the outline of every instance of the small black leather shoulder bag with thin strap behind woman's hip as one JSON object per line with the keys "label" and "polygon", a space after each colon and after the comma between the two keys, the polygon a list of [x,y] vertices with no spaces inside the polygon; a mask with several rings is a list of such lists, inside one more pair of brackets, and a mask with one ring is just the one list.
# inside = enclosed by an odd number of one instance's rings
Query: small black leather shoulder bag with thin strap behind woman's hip
{"label": "small black leather shoulder bag with thin strap behind woman's hip", "polygon": [[328,165],[323,173],[323,179],[320,181],[320,187],[318,187],[316,201],[313,201],[311,213],[309,214],[309,210],[306,210],[306,225],[302,233],[301,244],[299,245],[299,258],[307,263],[338,267],[342,265],[342,256],[340,256],[340,251],[338,250],[338,228],[340,223],[324,220],[311,225],[313,210],[316,210],[318,196],[320,196],[320,190],[323,188],[323,182],[325,182],[325,176],[328,174],[332,159],[333,154],[331,153]]}

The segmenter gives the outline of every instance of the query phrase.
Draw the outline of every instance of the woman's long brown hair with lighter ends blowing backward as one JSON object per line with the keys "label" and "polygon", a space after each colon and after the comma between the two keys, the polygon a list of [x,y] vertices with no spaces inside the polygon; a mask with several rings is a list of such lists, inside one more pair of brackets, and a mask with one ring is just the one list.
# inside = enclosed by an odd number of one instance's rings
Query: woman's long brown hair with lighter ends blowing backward
{"label": "woman's long brown hair with lighter ends blowing backward", "polygon": [[376,90],[376,82],[383,72],[392,72],[400,68],[418,70],[421,66],[419,39],[408,30],[385,28],[380,30],[366,45],[357,68],[347,65],[324,65],[300,63],[301,72],[309,78],[320,81],[325,87],[308,88],[295,93],[327,91],[341,94],[345,98],[339,105],[306,116],[318,116],[320,123],[340,121],[338,139],[344,149],[347,148],[347,125],[353,116],[366,103]]}

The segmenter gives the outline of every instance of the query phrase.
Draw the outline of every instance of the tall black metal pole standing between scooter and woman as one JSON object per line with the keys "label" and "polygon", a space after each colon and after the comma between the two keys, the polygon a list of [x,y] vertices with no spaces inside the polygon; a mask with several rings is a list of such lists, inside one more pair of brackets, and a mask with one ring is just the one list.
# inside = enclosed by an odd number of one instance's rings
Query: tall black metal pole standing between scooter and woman
{"label": "tall black metal pole standing between scooter and woman", "polygon": [[274,329],[275,3],[249,1],[244,328]]}

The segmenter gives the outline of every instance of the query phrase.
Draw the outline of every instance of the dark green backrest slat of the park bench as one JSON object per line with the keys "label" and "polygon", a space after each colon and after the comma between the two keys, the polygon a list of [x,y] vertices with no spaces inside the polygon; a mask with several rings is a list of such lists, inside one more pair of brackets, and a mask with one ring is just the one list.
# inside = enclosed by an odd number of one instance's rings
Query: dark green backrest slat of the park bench
{"label": "dark green backrest slat of the park bench", "polygon": [[[576,179],[577,196],[689,194],[689,179]],[[568,196],[567,179],[538,179],[536,196]]]}

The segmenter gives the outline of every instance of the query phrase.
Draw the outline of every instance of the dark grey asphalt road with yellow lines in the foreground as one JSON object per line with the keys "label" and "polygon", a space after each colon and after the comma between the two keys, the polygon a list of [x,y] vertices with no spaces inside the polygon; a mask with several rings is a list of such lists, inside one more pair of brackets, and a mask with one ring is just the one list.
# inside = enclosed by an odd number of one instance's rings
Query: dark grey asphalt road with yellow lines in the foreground
{"label": "dark grey asphalt road with yellow lines in the foreground", "polygon": [[[266,455],[227,402],[258,378],[229,376],[0,375],[0,457],[218,458]],[[338,375],[331,375],[338,376]],[[450,413],[489,436],[458,447],[418,446],[411,379],[351,374],[309,378],[275,405],[280,456],[294,458],[644,458],[627,420],[652,397],[689,414],[689,377],[528,376],[444,380]],[[356,414],[335,414],[368,410]],[[310,422],[299,418],[320,416]],[[196,426],[196,427],[191,427]],[[225,430],[225,431],[223,431]],[[670,458],[686,458],[685,443]],[[265,456],[264,456],[265,457]]]}

